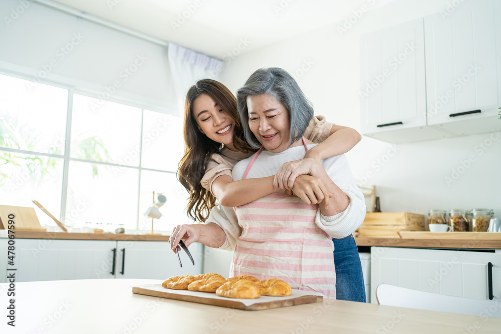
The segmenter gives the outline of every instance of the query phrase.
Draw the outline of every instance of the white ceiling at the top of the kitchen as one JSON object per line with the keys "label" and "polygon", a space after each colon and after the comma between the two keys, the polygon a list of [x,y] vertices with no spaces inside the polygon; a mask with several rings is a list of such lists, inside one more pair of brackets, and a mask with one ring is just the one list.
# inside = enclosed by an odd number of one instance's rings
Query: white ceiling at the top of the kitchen
{"label": "white ceiling at the top of the kitchen", "polygon": [[[394,0],[57,0],[73,9],[156,39],[222,59],[354,15]],[[185,18],[183,17],[185,16]],[[241,43],[245,41],[246,43]]]}

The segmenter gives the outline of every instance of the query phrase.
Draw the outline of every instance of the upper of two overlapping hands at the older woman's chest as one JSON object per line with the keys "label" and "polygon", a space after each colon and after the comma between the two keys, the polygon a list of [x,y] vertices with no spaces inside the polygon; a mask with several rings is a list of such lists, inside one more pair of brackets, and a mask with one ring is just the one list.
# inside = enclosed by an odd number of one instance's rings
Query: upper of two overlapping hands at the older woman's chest
{"label": "upper of two overlapping hands at the older woman's chest", "polygon": [[292,190],[299,175],[312,175],[318,166],[320,163],[312,158],[286,162],[275,174],[273,186],[275,189]]}

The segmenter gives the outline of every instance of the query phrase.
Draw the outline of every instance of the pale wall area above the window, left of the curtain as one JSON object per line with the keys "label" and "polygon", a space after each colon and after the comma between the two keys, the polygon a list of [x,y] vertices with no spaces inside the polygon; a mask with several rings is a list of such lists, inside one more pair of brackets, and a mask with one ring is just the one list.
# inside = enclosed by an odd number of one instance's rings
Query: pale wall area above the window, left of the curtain
{"label": "pale wall area above the window, left of the curtain", "polygon": [[[178,112],[167,48],[27,0],[2,0],[0,13],[1,72],[21,72],[31,80],[45,72],[43,82],[79,87],[94,96],[118,80],[111,100]],[[147,58],[144,64],[130,76],[122,72],[137,55]]]}

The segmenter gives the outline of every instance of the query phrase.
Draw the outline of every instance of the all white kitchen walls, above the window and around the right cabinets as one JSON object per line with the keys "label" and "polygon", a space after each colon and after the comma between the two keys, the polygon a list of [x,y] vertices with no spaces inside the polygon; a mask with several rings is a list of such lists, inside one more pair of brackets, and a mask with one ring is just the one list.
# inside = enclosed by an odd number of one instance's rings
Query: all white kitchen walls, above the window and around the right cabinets
{"label": "all white kitchen walls, above the window and around the right cabinets", "polygon": [[[305,62],[313,62],[298,82],[314,103],[316,113],[360,130],[359,36],[439,12],[449,1],[397,0],[374,10],[371,2],[367,2],[369,11],[342,36],[337,27],[343,22],[338,22],[239,55],[227,64],[221,82],[235,92],[258,68],[278,66],[300,74],[297,71]],[[23,72],[33,78],[55,59],[57,66],[48,79],[97,94],[120,80],[120,72],[133,63],[137,54],[144,54],[148,60],[122,82],[112,100],[136,101],[158,111],[175,109],[164,47],[85,20],[79,22],[71,15],[31,2],[17,19],[6,22],[5,17],[11,17],[12,10],[21,3],[0,2],[0,72]],[[346,13],[347,18],[351,15]],[[71,42],[74,33],[84,39],[64,59],[58,58],[56,52]],[[501,121],[493,127],[499,131]],[[480,155],[475,146],[486,139],[488,134],[399,145],[397,154],[382,166],[377,159],[387,158],[385,153],[391,145],[364,137],[347,157],[362,184],[377,185],[383,211],[426,213],[431,208],[487,207],[501,216],[501,140],[494,141]],[[476,161],[456,182],[447,185],[444,178],[469,155],[474,155]],[[374,176],[363,182],[361,177],[367,172]]]}

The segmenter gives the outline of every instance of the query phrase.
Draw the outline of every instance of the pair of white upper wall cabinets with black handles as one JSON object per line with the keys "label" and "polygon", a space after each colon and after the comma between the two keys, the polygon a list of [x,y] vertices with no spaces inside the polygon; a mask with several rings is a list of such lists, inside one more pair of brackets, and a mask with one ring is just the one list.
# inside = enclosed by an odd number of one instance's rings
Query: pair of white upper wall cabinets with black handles
{"label": "pair of white upper wall cabinets with black handles", "polygon": [[362,134],[403,143],[499,122],[501,2],[462,2],[362,36],[360,47]]}

